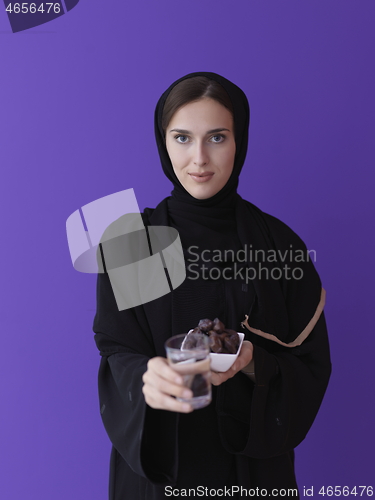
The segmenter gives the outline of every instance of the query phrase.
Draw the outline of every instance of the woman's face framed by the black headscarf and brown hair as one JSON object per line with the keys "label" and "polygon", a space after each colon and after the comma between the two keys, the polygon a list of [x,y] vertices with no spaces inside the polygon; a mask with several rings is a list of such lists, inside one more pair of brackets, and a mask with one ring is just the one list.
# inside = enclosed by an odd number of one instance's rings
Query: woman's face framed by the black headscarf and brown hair
{"label": "woman's face framed by the black headscarf and brown hair", "polygon": [[231,112],[209,98],[179,108],[166,129],[173,170],[194,198],[211,198],[227,183],[236,144]]}

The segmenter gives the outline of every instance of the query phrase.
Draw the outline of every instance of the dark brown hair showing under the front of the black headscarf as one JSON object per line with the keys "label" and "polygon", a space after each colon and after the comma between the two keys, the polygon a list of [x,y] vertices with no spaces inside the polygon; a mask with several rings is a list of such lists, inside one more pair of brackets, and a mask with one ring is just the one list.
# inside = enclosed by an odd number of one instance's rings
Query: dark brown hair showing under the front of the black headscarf
{"label": "dark brown hair showing under the front of the black headscarf", "polygon": [[168,124],[176,111],[185,104],[193,101],[199,101],[199,99],[203,99],[204,97],[214,99],[218,103],[222,104],[232,113],[232,116],[234,117],[232,102],[227,91],[222,85],[220,85],[220,83],[215,80],[210,80],[206,76],[186,78],[186,80],[182,80],[182,82],[173,87],[165,101],[162,116],[164,137]]}

